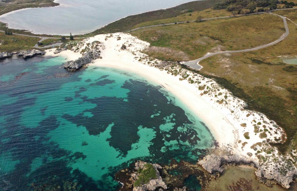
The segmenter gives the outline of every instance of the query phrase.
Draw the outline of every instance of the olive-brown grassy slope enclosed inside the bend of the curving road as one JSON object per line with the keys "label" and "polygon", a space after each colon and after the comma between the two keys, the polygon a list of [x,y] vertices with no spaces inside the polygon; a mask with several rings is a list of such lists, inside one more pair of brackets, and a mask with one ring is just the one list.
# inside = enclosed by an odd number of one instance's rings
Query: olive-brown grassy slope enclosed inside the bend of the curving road
{"label": "olive-brown grassy slope enclosed inside the bend of the curving road", "polygon": [[260,46],[278,39],[284,32],[281,18],[264,14],[145,28],[131,34],[150,42],[151,46],[167,48],[151,48],[150,56],[187,61],[207,52]]}

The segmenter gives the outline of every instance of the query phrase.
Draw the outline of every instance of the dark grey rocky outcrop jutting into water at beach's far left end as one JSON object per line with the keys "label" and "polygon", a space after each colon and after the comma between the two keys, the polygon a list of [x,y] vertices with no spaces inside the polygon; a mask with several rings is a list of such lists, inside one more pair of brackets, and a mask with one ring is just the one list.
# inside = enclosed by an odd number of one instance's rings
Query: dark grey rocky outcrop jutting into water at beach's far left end
{"label": "dark grey rocky outcrop jutting into water at beach's far left end", "polygon": [[85,53],[82,57],[75,61],[67,61],[64,64],[64,68],[66,68],[69,71],[76,71],[80,67],[82,67],[84,64],[87,64],[95,59],[98,59],[100,57],[99,51],[89,51]]}

